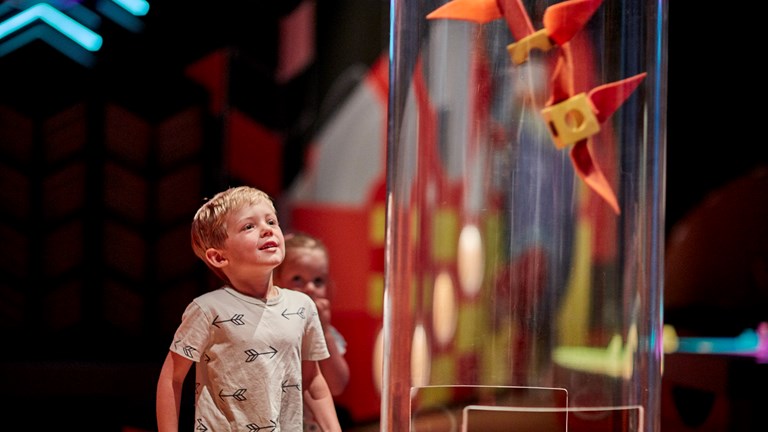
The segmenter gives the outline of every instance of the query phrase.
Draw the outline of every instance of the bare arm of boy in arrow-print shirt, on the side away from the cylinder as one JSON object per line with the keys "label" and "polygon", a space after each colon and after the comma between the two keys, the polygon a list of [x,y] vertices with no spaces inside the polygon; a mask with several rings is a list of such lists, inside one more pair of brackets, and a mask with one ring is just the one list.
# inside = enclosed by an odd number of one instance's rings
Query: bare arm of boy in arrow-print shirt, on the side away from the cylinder
{"label": "bare arm of boy in arrow-print shirt, on the side away from the cylinder", "polygon": [[175,352],[168,351],[160,377],[157,380],[157,430],[158,432],[178,432],[179,410],[184,378],[192,366],[192,360]]}

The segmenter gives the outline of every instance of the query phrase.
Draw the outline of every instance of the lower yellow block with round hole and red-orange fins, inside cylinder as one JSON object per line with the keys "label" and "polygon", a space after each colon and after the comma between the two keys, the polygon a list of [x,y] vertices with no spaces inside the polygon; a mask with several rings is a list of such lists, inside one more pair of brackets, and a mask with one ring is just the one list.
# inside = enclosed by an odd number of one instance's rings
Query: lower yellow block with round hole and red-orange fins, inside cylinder
{"label": "lower yellow block with round hole and red-orange fins, inside cylinder", "polygon": [[559,149],[600,132],[600,123],[586,93],[544,108],[541,115],[549,125],[555,147]]}

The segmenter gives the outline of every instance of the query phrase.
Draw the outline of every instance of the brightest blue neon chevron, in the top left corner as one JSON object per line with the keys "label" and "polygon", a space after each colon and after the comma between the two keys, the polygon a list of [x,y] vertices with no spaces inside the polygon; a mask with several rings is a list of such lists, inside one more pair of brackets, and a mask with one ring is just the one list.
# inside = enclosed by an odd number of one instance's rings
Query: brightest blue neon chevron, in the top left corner
{"label": "brightest blue neon chevron, in the top left corner", "polygon": [[101,36],[46,3],[38,3],[0,23],[0,39],[32,24],[36,19],[45,22],[88,51],[98,51],[101,48]]}

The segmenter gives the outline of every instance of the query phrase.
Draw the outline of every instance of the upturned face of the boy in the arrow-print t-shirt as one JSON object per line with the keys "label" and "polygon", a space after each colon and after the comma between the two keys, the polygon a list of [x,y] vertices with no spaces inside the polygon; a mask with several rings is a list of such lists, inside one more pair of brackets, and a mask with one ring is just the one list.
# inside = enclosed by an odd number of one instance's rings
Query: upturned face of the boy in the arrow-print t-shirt
{"label": "upturned face of the boy in the arrow-print t-shirt", "polygon": [[285,257],[283,231],[274,208],[262,201],[231,212],[225,218],[227,240],[220,249],[227,271],[249,267],[274,269]]}

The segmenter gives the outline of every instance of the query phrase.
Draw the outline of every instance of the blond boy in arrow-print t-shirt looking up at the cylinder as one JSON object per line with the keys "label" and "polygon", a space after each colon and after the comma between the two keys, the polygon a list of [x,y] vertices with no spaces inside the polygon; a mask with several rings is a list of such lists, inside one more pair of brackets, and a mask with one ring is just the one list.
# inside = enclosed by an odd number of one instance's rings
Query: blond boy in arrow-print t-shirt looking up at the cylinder
{"label": "blond boy in arrow-print t-shirt looking up at the cylinder", "polygon": [[158,431],[178,431],[193,362],[195,430],[300,431],[303,400],[323,431],[341,431],[315,303],[272,282],[285,245],[271,198],[247,186],[216,194],[194,216],[192,249],[226,285],[184,311],[158,379]]}

